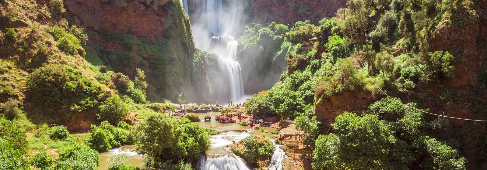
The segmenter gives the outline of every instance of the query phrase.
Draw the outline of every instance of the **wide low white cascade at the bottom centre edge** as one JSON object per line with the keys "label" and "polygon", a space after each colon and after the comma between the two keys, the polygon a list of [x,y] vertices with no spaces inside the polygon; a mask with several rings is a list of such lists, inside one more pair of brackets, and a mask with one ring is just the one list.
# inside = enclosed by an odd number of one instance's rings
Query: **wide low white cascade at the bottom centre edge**
{"label": "wide low white cascade at the bottom centre edge", "polygon": [[201,156],[198,170],[250,170],[235,154]]}

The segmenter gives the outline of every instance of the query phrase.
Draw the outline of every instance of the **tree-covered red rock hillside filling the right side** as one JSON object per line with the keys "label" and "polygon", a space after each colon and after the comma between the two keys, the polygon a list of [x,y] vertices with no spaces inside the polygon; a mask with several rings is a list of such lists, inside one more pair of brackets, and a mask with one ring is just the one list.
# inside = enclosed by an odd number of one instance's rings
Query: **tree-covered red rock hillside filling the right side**
{"label": "tree-covered red rock hillside filling the right side", "polygon": [[281,45],[316,43],[287,51],[287,71],[247,113],[293,119],[316,170],[485,169],[486,126],[465,120],[487,119],[485,10],[350,0],[318,24],[298,21]]}

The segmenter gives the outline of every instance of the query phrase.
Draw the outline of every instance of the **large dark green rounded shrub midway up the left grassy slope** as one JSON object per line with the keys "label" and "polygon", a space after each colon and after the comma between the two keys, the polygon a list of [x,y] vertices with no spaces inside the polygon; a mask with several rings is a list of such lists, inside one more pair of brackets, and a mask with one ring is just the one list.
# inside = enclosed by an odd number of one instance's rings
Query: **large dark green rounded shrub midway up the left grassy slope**
{"label": "large dark green rounded shrub midway up the left grassy slope", "polygon": [[[101,86],[80,71],[63,65],[47,65],[29,75],[28,90],[36,107],[43,112],[69,114],[95,107],[102,93]],[[66,115],[59,115],[66,116]]]}

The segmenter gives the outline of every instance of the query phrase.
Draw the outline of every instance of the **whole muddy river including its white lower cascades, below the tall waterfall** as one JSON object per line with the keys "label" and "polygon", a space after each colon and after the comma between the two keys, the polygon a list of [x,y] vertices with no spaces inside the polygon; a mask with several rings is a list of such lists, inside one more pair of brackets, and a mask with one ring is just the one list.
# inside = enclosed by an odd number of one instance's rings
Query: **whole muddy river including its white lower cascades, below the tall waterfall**
{"label": "whole muddy river including its white lower cascades, below the tall waterfall", "polygon": [[[215,121],[215,116],[220,113],[202,113],[198,114],[201,121],[194,122],[199,124],[203,128],[215,127],[216,131],[224,130],[237,130],[237,129],[249,129],[249,126],[242,126],[237,123],[220,123]],[[211,121],[204,121],[206,115],[211,116]],[[264,132],[267,130],[267,132]],[[206,151],[206,155],[202,155],[197,170],[250,170],[248,166],[242,161],[240,157],[235,155],[230,151],[226,145],[232,144],[233,141],[238,142],[247,136],[257,135],[257,136],[274,136],[270,132],[276,131],[274,127],[261,127],[259,130],[254,130],[250,132],[227,132],[220,135],[210,136],[210,148]],[[274,142],[273,140],[271,140]],[[282,151],[280,145],[275,144],[276,151],[272,155],[271,162],[269,163],[269,170],[282,170],[282,160],[285,158],[285,153]],[[123,154],[127,155],[127,161],[124,165],[133,166],[141,169],[149,169],[149,167],[144,166],[144,156],[137,154],[133,151],[133,146],[126,145],[123,147],[116,147],[108,152],[100,153],[98,158],[98,170],[107,170],[107,159],[117,155]]]}

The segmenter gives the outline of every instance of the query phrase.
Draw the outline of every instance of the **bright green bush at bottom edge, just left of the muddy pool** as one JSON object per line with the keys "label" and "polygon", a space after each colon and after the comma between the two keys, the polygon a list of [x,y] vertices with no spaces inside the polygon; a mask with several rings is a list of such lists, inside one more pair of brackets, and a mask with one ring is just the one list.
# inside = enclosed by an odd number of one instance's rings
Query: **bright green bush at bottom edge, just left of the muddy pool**
{"label": "bright green bush at bottom edge, just left of the muddy pool", "polygon": [[55,170],[96,170],[98,153],[90,147],[73,143],[60,148]]}

